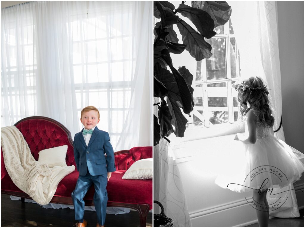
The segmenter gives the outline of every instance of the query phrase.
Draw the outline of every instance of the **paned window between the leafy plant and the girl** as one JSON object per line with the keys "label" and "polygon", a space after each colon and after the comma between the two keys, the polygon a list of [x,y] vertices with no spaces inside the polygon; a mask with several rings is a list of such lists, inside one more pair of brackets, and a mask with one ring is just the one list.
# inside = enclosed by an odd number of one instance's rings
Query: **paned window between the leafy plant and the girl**
{"label": "paned window between the leafy plant and the girl", "polygon": [[187,127],[212,127],[234,123],[238,119],[237,92],[231,85],[240,79],[239,54],[231,20],[217,27],[217,34],[207,42],[212,57],[197,62],[194,88],[194,110]]}

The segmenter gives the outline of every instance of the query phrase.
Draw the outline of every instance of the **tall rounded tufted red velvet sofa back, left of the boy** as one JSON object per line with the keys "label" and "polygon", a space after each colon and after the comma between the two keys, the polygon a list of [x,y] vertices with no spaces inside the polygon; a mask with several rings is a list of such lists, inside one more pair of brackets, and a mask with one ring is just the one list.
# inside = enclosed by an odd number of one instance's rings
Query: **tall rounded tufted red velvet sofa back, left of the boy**
{"label": "tall rounded tufted red velvet sofa back, left of the boy", "polygon": [[73,143],[69,139],[69,134],[64,131],[63,125],[54,120],[29,119],[18,122],[15,126],[22,133],[25,141],[27,141],[36,161],[38,161],[39,151],[56,146],[68,145],[66,164],[67,166],[74,165],[76,167]]}

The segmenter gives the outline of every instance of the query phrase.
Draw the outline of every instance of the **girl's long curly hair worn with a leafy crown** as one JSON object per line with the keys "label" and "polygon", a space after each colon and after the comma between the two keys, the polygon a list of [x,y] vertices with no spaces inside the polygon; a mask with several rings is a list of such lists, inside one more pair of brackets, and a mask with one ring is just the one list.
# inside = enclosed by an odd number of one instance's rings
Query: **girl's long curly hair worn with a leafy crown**
{"label": "girl's long curly hair worn with a leafy crown", "polygon": [[[264,126],[272,127],[274,124],[274,117],[271,115],[272,110],[269,106],[269,99],[264,89],[256,89],[256,88],[266,88],[264,86],[264,82],[260,77],[250,77],[249,79],[243,81],[243,85],[250,89],[239,89],[238,90],[238,101],[239,101],[239,110],[242,117],[246,116],[247,112],[250,109],[255,110],[255,114],[257,115],[260,122],[264,124]],[[254,88],[254,89],[251,89]],[[249,106],[248,107],[248,104]]]}

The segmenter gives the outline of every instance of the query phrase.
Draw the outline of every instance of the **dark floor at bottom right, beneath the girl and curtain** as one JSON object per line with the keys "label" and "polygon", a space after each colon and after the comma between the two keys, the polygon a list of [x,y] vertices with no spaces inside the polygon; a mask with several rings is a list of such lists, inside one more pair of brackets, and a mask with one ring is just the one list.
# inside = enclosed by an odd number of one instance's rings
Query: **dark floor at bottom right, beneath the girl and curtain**
{"label": "dark floor at bottom right, beneath the girl and curtain", "polygon": [[[304,227],[304,209],[300,210],[299,218],[273,218],[269,219],[269,227]],[[257,227],[258,223],[246,227]]]}

